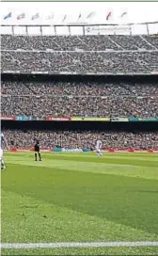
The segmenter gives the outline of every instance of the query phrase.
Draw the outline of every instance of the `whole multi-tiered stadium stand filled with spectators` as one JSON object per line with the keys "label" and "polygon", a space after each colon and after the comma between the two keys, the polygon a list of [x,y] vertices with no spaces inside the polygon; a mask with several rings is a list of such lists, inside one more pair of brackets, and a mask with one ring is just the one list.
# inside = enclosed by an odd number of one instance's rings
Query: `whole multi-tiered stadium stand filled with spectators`
{"label": "whole multi-tiered stadium stand filled with spectators", "polygon": [[[104,76],[96,82],[84,78],[87,74],[155,74],[158,72],[157,37],[2,35],[1,60],[3,117],[35,117],[43,122],[46,117],[158,118],[156,79],[130,82],[122,76],[108,82]],[[19,74],[13,80],[4,79],[3,75],[10,72]],[[38,72],[52,74],[52,78],[36,80]],[[24,79],[23,73],[34,79]],[[64,80],[62,73],[82,74],[82,78]],[[54,74],[60,78],[55,80]],[[98,124],[98,129],[85,131],[81,122],[78,125],[73,131],[64,129],[64,122],[63,129],[54,131],[10,129],[9,125],[3,130],[17,149],[30,149],[35,136],[39,137],[41,147],[51,149],[55,144],[67,149],[94,149],[98,138],[103,140],[105,149],[158,148],[158,133],[154,129],[148,132],[101,131]]]}

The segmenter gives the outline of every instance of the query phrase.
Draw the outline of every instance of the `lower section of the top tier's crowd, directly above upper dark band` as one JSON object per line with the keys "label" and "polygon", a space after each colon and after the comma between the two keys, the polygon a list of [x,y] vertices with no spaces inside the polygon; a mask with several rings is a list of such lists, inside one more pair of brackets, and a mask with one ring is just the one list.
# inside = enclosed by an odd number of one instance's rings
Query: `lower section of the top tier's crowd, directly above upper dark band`
{"label": "lower section of the top tier's crowd, directly above upper dark band", "polygon": [[1,52],[2,72],[150,73],[158,72],[152,52]]}

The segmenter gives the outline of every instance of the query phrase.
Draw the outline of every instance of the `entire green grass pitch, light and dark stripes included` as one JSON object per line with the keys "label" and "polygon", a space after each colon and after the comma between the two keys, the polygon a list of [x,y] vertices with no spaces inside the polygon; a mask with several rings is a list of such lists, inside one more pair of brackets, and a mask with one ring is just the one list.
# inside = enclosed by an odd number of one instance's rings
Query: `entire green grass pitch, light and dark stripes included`
{"label": "entire green grass pitch, light and dark stripes included", "polygon": [[[158,242],[158,155],[5,153],[2,243]],[[2,255],[157,255],[158,247],[3,248]]]}

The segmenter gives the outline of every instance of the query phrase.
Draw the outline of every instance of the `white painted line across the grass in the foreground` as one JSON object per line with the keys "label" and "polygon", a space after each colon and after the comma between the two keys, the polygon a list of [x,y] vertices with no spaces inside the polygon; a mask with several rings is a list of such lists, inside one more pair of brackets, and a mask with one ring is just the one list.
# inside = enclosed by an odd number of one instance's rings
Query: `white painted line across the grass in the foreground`
{"label": "white painted line across the grass in the foreground", "polygon": [[70,242],[70,243],[2,243],[0,248],[138,248],[158,247],[158,241],[137,242]]}

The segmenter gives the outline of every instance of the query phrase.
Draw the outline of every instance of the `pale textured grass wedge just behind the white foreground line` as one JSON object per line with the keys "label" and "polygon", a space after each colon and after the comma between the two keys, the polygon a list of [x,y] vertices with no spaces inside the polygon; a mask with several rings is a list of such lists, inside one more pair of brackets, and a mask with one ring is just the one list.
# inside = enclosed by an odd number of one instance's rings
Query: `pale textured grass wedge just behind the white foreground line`
{"label": "pale textured grass wedge just behind the white foreground line", "polygon": [[158,241],[158,235],[117,223],[117,220],[90,216],[4,190],[2,220],[3,243]]}

